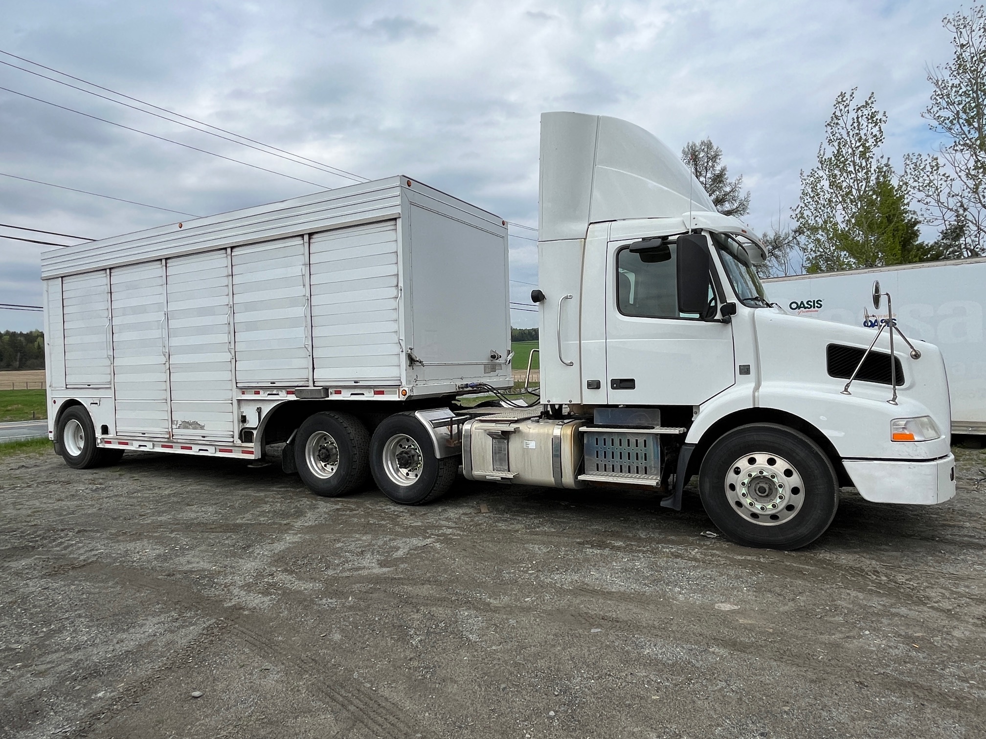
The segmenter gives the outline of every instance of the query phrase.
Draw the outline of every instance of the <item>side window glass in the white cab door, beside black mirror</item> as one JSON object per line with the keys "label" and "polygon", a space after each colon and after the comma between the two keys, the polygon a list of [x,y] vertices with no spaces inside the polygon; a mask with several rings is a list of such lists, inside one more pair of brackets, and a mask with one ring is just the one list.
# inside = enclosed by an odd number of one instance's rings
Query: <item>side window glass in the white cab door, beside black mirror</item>
{"label": "side window glass in the white cab door, beside black mirror", "polygon": [[670,244],[663,261],[628,248],[616,253],[616,304],[624,315],[642,318],[681,318],[677,309],[677,245]]}

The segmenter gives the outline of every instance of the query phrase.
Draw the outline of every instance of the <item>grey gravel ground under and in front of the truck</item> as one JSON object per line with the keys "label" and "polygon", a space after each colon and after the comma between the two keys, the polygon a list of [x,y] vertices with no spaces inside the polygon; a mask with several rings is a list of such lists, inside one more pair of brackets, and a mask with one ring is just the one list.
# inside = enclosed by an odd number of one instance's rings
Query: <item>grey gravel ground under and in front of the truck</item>
{"label": "grey gravel ground under and in front of the truck", "polygon": [[0,735],[986,736],[986,452],[956,454],[953,501],[846,493],[798,552],[703,536],[694,492],[2,458]]}

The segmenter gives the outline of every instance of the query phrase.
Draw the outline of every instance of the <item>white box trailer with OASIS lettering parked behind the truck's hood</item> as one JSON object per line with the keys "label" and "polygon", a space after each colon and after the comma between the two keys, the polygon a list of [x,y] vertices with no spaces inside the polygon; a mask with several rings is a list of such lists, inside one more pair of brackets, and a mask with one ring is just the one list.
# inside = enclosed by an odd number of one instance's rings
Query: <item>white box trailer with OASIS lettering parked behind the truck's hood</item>
{"label": "white box trailer with OASIS lettering parked behind the truck's hood", "polygon": [[[896,325],[911,339],[936,344],[949,372],[952,434],[986,435],[986,259],[858,269],[764,280],[767,297],[797,315],[877,330],[874,280],[893,299]],[[880,315],[877,315],[880,313]]]}

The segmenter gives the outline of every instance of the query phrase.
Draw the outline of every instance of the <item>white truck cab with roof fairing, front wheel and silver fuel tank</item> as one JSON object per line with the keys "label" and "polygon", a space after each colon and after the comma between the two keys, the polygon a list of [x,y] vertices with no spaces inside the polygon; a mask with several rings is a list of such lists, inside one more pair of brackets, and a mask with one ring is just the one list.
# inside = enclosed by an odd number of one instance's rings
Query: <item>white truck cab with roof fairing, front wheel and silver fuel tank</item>
{"label": "white truck cab with roof fairing, front wheel and silver fuel tank", "polygon": [[466,423],[467,477],[644,487],[680,508],[697,475],[727,536],[784,549],[826,530],[842,487],[954,495],[938,349],[898,339],[891,358],[887,334],[773,305],[756,235],[653,135],[544,113],[539,194],[543,405]]}

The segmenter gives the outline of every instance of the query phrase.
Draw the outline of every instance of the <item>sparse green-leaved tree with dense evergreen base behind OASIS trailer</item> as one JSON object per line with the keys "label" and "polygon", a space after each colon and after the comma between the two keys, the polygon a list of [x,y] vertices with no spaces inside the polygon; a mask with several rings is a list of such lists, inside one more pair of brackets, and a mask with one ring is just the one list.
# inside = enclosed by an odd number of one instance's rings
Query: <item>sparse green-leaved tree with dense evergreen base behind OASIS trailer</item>
{"label": "sparse green-leaved tree with dense evergreen base behind OASIS trailer", "polygon": [[920,240],[908,186],[880,154],[886,113],[871,94],[839,93],[818,146],[818,166],[801,173],[794,208],[809,272],[925,261],[937,252]]}

